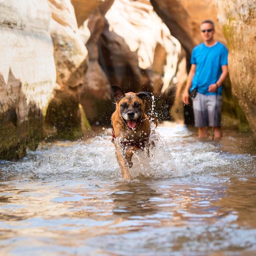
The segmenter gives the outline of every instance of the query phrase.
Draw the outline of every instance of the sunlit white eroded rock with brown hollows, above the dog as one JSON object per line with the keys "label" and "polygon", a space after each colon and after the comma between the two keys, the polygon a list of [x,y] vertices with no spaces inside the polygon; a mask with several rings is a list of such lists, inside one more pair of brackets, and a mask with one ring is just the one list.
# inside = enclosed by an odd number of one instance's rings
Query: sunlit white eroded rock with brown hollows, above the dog
{"label": "sunlit white eroded rock with brown hollows, above the dog", "polygon": [[100,62],[111,85],[169,98],[181,45],[150,2],[115,0],[105,17]]}

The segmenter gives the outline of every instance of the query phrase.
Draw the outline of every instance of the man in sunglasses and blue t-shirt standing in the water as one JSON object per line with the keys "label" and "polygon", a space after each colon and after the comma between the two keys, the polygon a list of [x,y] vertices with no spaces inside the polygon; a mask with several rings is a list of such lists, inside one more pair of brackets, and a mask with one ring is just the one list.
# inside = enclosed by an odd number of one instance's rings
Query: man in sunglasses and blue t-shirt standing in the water
{"label": "man in sunglasses and blue t-shirt standing in the water", "polygon": [[219,139],[222,137],[222,82],[228,75],[228,50],[222,43],[213,39],[215,30],[211,20],[203,21],[200,28],[204,42],[192,51],[191,69],[182,100],[188,105],[189,92],[196,88],[193,112],[198,136],[207,138],[207,127],[211,126],[214,139]]}

